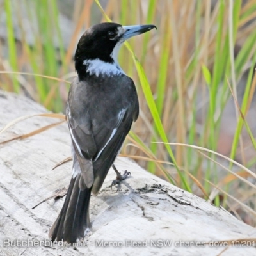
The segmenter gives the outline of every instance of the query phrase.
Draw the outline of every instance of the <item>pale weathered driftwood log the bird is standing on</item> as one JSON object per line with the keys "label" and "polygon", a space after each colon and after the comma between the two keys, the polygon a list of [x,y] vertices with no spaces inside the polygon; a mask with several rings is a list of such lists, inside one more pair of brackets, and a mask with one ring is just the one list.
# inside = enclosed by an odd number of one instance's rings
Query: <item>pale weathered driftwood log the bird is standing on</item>
{"label": "pale weathered driftwood log the bird is standing on", "polygon": [[[29,99],[0,92],[1,128],[19,116],[44,112]],[[30,118],[0,134],[0,141],[54,122],[58,120]],[[124,157],[118,157],[116,167],[130,171],[132,176],[120,184],[119,190],[111,190],[115,173],[109,171],[99,195],[91,200],[90,236],[75,247],[49,244],[49,228],[63,198],[52,198],[32,208],[69,184],[71,162],[52,170],[68,156],[70,136],[65,123],[0,145],[1,255],[218,255],[225,248],[221,255],[256,255],[249,242],[229,247],[213,244],[256,237],[255,228]]]}

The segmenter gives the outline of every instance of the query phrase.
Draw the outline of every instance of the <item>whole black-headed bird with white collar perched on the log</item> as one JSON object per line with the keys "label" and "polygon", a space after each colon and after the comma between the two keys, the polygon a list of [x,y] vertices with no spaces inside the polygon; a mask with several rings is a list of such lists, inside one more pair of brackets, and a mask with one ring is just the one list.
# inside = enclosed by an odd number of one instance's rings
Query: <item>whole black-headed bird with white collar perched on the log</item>
{"label": "whole black-headed bird with white collar perched on the log", "polygon": [[[66,111],[73,173],[64,205],[49,233],[52,240],[74,243],[91,227],[91,192],[99,193],[139,114],[136,88],[118,65],[118,51],[128,38],[153,28],[156,26],[101,23],[89,28],[79,40],[77,77],[70,86]],[[120,180],[128,174],[115,171]]]}

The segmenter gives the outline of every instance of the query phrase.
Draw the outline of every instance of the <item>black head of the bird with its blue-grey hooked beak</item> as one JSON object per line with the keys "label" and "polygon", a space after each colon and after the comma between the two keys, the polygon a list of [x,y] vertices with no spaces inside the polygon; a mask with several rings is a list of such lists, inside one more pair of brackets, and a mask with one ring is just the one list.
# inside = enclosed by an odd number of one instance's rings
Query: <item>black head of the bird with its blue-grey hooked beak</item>
{"label": "black head of the bird with its blue-grey hooked beak", "polygon": [[77,44],[75,66],[77,73],[81,73],[86,61],[100,60],[104,63],[117,63],[117,55],[122,43],[132,36],[140,35],[154,25],[122,26],[116,23],[100,23],[85,31]]}

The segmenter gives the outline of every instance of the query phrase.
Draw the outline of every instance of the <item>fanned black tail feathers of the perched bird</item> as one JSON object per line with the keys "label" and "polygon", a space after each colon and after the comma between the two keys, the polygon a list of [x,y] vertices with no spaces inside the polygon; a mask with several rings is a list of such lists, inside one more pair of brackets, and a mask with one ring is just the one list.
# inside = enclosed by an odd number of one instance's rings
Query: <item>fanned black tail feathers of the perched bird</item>
{"label": "fanned black tail feathers of the perched bird", "polygon": [[64,205],[49,232],[52,241],[75,243],[90,228],[89,204],[92,188],[81,190],[80,177],[81,173],[70,181]]}

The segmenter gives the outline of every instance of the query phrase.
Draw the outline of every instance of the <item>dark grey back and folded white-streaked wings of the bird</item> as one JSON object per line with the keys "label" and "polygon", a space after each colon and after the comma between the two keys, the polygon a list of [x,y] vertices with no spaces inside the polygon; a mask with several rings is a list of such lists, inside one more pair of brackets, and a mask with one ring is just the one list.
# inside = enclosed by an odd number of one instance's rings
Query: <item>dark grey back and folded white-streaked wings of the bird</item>
{"label": "dark grey back and folded white-streaked wings of the bird", "polygon": [[[97,88],[100,83],[90,86],[75,81],[68,95],[67,118],[72,142],[85,186],[93,186],[93,194],[99,192],[132,121],[138,117],[138,97],[132,79],[124,76],[123,81],[118,77],[113,82],[111,77],[110,88],[104,91]],[[88,90],[84,90],[85,86]],[[83,188],[81,182],[79,186]]]}

